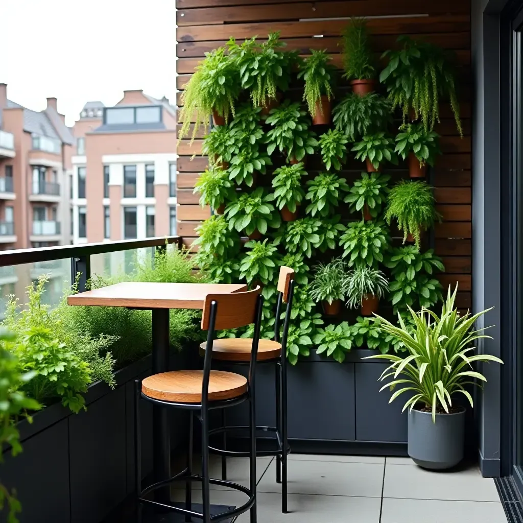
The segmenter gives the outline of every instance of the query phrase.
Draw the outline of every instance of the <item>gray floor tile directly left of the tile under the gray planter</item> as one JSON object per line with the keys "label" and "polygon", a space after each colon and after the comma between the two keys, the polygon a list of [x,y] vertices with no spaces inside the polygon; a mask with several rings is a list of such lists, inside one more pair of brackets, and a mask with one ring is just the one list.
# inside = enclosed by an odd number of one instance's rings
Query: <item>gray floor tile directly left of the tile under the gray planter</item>
{"label": "gray floor tile directly left of the tile under the gray planter", "polygon": [[[332,461],[289,461],[288,490],[292,494],[381,497],[384,465]],[[275,483],[276,460],[258,484],[258,492],[281,492]]]}

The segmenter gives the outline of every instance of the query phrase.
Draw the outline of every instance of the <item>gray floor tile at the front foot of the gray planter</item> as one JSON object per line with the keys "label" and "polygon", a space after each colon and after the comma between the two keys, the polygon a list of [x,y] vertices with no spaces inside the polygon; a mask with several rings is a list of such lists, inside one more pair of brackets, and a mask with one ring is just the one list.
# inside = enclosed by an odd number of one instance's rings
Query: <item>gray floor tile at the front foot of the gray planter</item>
{"label": "gray floor tile at the front foot of the gray planter", "polygon": [[494,480],[482,477],[477,468],[433,472],[389,463],[385,465],[383,497],[499,501]]}

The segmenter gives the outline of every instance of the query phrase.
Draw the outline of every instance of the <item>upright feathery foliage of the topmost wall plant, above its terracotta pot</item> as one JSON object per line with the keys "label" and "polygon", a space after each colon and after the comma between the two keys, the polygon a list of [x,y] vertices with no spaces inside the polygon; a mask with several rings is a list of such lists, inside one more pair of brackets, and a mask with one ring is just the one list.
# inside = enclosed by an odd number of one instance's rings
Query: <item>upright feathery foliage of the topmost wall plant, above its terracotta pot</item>
{"label": "upright feathery foliage of the topmost wall plant, above its terracotta pot", "polygon": [[342,37],[344,77],[349,80],[373,78],[376,70],[368,43],[367,20],[351,18]]}

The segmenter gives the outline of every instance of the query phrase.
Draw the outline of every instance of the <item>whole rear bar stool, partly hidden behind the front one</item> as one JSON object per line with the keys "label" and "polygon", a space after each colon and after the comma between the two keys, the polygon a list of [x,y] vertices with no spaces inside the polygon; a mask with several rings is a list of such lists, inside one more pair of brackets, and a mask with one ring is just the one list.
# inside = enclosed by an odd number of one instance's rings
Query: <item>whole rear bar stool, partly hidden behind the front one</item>
{"label": "whole rear bar stool, partly hidden behind the front one", "polygon": [[[275,433],[277,448],[275,450],[258,450],[257,457],[276,456],[276,482],[281,483],[281,511],[287,514],[287,454],[290,447],[287,438],[287,334],[292,311],[292,296],[294,292],[294,271],[289,267],[281,267],[278,277],[278,301],[276,304],[276,319],[274,324],[274,340],[260,339],[258,344],[258,363],[272,363],[276,370],[276,427],[257,426],[256,430]],[[279,335],[279,320],[282,303],[287,303],[283,331]],[[252,339],[222,338],[212,344],[212,358],[226,363],[241,365],[249,361]],[[200,345],[200,355],[207,357],[209,343]],[[227,479],[227,457],[249,457],[248,452],[226,450],[227,433],[233,430],[246,429],[245,426],[226,425],[225,409],[221,412],[221,427],[210,431],[210,435],[221,434],[222,448],[210,447],[210,451],[222,457],[222,480]]]}

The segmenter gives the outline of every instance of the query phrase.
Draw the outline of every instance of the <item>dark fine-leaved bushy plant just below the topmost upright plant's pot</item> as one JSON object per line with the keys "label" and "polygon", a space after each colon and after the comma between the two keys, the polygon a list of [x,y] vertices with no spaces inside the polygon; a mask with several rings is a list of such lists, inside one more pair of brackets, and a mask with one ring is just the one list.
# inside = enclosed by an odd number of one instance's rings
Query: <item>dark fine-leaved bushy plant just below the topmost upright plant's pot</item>
{"label": "dark fine-leaved bushy plant just below the topmost upright plant's pot", "polygon": [[351,142],[385,129],[392,121],[390,101],[377,93],[349,93],[332,112],[336,129]]}

